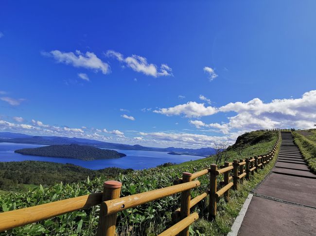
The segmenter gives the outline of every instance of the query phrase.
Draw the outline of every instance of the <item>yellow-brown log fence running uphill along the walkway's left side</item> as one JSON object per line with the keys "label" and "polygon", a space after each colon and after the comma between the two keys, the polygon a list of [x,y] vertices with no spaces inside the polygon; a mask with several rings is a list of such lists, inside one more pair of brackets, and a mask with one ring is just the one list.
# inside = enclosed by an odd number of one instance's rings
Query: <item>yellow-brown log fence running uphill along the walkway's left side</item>
{"label": "yellow-brown log fence running uphill along the walkway's left side", "polygon": [[[196,212],[190,214],[190,209],[209,195],[209,219],[214,220],[218,198],[224,195],[226,201],[229,201],[229,189],[238,190],[238,184],[243,184],[245,177],[249,179],[250,175],[263,169],[274,157],[279,143],[280,132],[277,142],[266,155],[225,162],[220,169],[212,164],[210,168],[196,173],[184,172],[182,178],[175,180],[170,187],[120,197],[122,183],[110,180],[104,183],[104,191],[100,193],[3,212],[0,213],[0,232],[101,204],[97,235],[114,236],[117,212],[181,192],[180,208],[172,213],[176,224],[159,236],[188,236],[189,226],[199,217]],[[191,189],[200,186],[200,182],[194,179],[208,173],[210,189],[191,199]],[[217,176],[220,174],[224,174],[224,181],[219,183],[222,186],[219,189]]]}

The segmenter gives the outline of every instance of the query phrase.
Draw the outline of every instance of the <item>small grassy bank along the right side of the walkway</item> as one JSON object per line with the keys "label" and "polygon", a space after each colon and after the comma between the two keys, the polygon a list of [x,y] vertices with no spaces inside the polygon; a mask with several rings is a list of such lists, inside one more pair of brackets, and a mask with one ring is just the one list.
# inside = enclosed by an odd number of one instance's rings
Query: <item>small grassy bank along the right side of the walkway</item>
{"label": "small grassy bank along the right side of the walkway", "polygon": [[309,167],[316,172],[316,129],[295,131],[292,134]]}

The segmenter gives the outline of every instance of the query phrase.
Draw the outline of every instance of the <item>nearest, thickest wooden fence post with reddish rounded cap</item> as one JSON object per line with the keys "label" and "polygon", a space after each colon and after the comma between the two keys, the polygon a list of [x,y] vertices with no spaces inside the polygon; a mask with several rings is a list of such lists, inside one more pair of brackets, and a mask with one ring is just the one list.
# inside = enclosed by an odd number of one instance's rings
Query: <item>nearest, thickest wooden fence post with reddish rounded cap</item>
{"label": "nearest, thickest wooden fence post with reddish rounded cap", "polygon": [[[105,181],[103,185],[102,202],[119,198],[121,194],[122,183],[109,180]],[[100,218],[97,230],[97,236],[114,236],[117,213],[104,216],[104,207],[101,205]]]}

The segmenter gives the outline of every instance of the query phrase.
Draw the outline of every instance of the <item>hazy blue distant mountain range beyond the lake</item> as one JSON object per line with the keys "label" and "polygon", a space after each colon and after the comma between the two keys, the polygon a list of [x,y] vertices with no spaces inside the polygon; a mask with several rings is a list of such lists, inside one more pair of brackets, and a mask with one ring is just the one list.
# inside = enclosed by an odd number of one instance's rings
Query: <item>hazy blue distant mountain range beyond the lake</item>
{"label": "hazy blue distant mountain range beyond the lake", "polygon": [[159,152],[176,152],[182,155],[202,156],[208,157],[215,154],[211,147],[191,149],[191,148],[158,148],[158,147],[144,147],[141,145],[128,145],[122,143],[102,142],[97,140],[68,138],[58,136],[32,136],[27,134],[0,132],[0,142],[15,142],[15,143],[30,143],[42,145],[63,145],[63,144],[78,144],[89,145],[99,148],[107,149],[121,149],[121,150],[143,150],[143,151],[159,151]]}

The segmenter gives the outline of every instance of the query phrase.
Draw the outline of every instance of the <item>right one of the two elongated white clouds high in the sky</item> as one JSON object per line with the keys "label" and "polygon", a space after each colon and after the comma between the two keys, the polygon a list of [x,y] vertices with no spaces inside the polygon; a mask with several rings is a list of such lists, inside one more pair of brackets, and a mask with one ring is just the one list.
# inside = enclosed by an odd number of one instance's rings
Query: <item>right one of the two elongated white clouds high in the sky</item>
{"label": "right one of the two elongated white clouds high in the sky", "polygon": [[114,57],[119,62],[125,63],[136,72],[141,72],[147,76],[159,77],[159,76],[172,76],[172,69],[167,64],[161,64],[158,69],[157,65],[148,63],[147,59],[138,55],[132,55],[124,58],[124,56],[116,51],[108,50],[105,53],[108,57]]}

